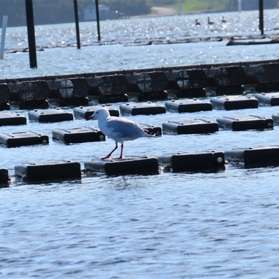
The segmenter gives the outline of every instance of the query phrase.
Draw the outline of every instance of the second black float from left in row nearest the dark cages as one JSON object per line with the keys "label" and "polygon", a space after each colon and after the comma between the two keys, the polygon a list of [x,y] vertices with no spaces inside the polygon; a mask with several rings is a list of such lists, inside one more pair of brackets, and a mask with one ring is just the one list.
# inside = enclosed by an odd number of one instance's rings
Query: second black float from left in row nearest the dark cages
{"label": "second black float from left in row nearest the dark cages", "polygon": [[33,110],[28,112],[28,116],[30,121],[41,123],[72,121],[74,119],[73,113],[61,110],[59,107],[49,110]]}

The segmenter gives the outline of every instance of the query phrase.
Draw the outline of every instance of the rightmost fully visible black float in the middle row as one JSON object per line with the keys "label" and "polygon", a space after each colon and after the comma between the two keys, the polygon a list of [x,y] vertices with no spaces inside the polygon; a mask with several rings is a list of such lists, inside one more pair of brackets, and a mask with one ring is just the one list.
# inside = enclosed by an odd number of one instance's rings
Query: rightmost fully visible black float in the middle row
{"label": "rightmost fully visible black float in the middle row", "polygon": [[273,119],[264,116],[234,116],[219,117],[216,119],[220,127],[234,131],[240,130],[264,130],[273,128]]}

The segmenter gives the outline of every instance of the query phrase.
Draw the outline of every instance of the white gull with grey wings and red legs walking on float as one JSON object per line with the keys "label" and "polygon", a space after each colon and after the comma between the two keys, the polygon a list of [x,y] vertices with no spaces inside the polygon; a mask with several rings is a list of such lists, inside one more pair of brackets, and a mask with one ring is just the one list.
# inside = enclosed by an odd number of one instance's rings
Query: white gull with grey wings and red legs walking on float
{"label": "white gull with grey wings and red legs walking on float", "polygon": [[112,153],[118,148],[118,143],[121,143],[121,153],[119,158],[116,159],[121,159],[123,155],[123,142],[126,140],[136,140],[139,137],[153,137],[153,135],[146,134],[146,131],[133,121],[117,116],[110,116],[110,112],[105,107],[96,110],[86,120],[90,119],[97,119],[101,132],[115,142],[114,149],[107,156],[101,158],[102,160],[112,156]]}

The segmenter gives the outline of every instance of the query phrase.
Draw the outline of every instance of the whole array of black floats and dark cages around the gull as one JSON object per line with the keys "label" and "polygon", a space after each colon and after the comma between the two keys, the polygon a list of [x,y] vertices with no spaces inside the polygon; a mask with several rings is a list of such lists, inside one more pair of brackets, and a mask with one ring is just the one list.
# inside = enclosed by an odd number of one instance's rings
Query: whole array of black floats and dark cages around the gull
{"label": "whole array of black floats and dark cages around the gull", "polygon": [[[17,132],[0,133],[1,148],[50,144],[43,133],[22,131],[20,126],[32,122],[57,123],[87,119],[105,104],[120,103],[111,108],[112,116],[145,115],[148,123],[140,126],[157,137],[172,135],[174,138],[190,134],[218,133],[220,129],[273,130],[278,129],[279,113],[271,116],[257,115],[259,105],[279,105],[279,60],[250,61],[211,65],[179,66],[141,70],[121,70],[107,73],[80,73],[0,80],[0,127],[19,126]],[[253,92],[252,94],[247,94]],[[225,93],[225,96],[223,94]],[[204,101],[208,98],[210,101]],[[156,100],[164,105],[158,105]],[[91,105],[93,103],[94,105]],[[13,109],[10,109],[10,104]],[[73,113],[61,107],[73,108]],[[50,108],[50,105],[52,107]],[[16,108],[16,110],[14,109]],[[19,110],[29,110],[27,118]],[[255,114],[226,116],[229,110],[255,109]],[[14,110],[14,111],[13,111]],[[197,117],[197,113],[223,110],[223,117],[216,121]],[[153,125],[152,116],[172,112],[180,119],[162,121]],[[193,117],[183,115],[190,113]],[[147,121],[146,121],[147,122]],[[38,124],[44,125],[45,124]],[[37,126],[38,127],[38,126]],[[232,132],[225,132],[229,133]],[[106,137],[100,130],[88,126],[52,130],[52,140],[61,144],[102,142]],[[59,143],[58,143],[59,144]],[[197,151],[161,156],[129,156],[121,160],[93,158],[84,162],[84,172],[107,175],[160,174],[172,172],[209,172],[225,169],[226,165],[240,163],[244,167],[279,165],[278,146],[239,146],[223,151]],[[52,179],[80,179],[80,162],[54,161],[21,163],[15,165],[15,176],[27,181]],[[8,169],[0,166],[0,184],[9,182]]]}

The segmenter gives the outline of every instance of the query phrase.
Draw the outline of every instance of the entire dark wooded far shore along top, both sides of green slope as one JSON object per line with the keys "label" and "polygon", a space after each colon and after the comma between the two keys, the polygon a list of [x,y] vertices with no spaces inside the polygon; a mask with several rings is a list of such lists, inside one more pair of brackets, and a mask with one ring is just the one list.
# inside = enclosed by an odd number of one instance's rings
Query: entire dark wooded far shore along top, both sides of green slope
{"label": "entire dark wooded far shore along top, both sides of green slope", "polygon": [[[117,10],[124,16],[133,16],[151,13],[152,6],[168,6],[184,1],[189,0],[98,0],[98,3],[106,4],[110,6],[110,10]],[[241,3],[242,10],[254,10],[259,6],[259,0],[242,0]],[[266,0],[264,8],[276,8],[278,3],[278,0]],[[84,21],[84,8],[89,5],[95,6],[95,0],[77,0],[80,22]],[[226,10],[238,10],[237,7],[238,0],[230,0]],[[0,27],[3,15],[8,15],[8,27],[26,25],[25,0],[0,0]],[[33,0],[33,15],[36,25],[75,22],[74,1]]]}

